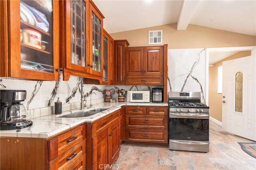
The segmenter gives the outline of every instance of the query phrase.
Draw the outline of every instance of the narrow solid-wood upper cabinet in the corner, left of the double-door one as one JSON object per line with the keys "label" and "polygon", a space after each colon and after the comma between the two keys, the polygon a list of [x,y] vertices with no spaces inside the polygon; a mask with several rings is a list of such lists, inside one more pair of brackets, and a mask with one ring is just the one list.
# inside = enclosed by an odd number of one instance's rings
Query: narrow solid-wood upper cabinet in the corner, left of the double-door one
{"label": "narrow solid-wood upper cabinet in the corner, left of the double-door one", "polygon": [[114,40],[114,84],[125,85],[125,51],[127,40]]}

